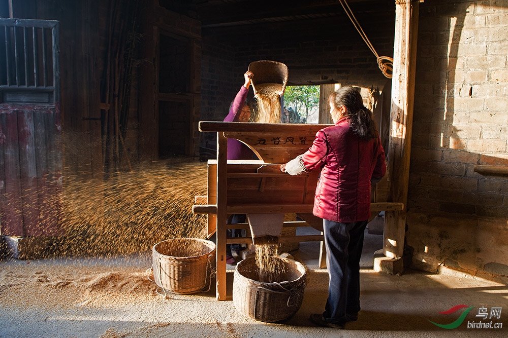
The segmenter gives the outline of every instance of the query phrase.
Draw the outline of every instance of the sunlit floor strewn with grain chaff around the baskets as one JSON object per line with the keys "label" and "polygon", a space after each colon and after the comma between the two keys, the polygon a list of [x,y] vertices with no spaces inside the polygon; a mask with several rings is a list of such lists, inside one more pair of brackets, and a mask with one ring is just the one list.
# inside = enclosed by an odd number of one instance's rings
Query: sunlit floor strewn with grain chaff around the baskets
{"label": "sunlit floor strewn with grain chaff around the baskets", "polygon": [[[508,311],[506,285],[466,275],[406,271],[402,276],[374,273],[373,252],[382,236],[366,234],[361,271],[361,306],[357,322],[345,330],[314,326],[322,312],[328,274],[317,267],[319,243],[301,243],[295,259],[307,267],[303,304],[282,323],[243,316],[232,301],[233,266],[228,272],[228,301],[215,300],[215,290],[192,295],[156,292],[148,280],[151,255],[102,259],[73,258],[0,261],[1,337],[452,337],[506,336],[508,316],[483,320],[479,308]],[[148,271],[147,271],[148,270]],[[464,309],[444,315],[456,305],[474,307],[455,329],[450,324]],[[467,328],[468,322],[506,324],[502,328]]]}

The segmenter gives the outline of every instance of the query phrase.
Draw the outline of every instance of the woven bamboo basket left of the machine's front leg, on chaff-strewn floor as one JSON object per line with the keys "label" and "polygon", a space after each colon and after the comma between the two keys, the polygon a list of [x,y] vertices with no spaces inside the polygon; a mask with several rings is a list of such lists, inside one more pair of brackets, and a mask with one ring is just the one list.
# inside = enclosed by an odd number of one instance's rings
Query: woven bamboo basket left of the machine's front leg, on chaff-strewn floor
{"label": "woven bamboo basket left of the machine's front leg, on chaff-strewn floor", "polygon": [[175,238],[152,249],[155,284],[165,291],[188,294],[203,291],[215,271],[215,243],[199,238]]}

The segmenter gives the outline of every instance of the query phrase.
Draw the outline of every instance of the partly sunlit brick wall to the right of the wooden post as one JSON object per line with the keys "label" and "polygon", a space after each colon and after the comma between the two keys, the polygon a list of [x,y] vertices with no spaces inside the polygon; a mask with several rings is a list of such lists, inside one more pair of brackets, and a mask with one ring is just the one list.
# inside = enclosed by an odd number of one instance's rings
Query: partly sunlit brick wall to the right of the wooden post
{"label": "partly sunlit brick wall to the right of the wooden post", "polygon": [[420,5],[407,205],[416,265],[508,263],[506,176],[474,171],[508,165],[507,23],[506,0]]}

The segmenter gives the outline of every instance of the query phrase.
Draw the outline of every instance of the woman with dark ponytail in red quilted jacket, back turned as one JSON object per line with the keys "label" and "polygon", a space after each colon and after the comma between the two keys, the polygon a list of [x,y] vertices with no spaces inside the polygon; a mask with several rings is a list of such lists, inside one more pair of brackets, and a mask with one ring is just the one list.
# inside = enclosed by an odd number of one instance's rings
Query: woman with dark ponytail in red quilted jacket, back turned
{"label": "woman with dark ponytail in red quilted jacket, back turned", "polygon": [[385,152],[372,112],[353,87],[329,98],[334,126],[317,132],[303,155],[280,166],[291,175],[321,168],[313,214],[323,218],[329,275],[323,314],[317,325],[344,328],[360,311],[360,256],[370,216],[371,184],[386,172]]}

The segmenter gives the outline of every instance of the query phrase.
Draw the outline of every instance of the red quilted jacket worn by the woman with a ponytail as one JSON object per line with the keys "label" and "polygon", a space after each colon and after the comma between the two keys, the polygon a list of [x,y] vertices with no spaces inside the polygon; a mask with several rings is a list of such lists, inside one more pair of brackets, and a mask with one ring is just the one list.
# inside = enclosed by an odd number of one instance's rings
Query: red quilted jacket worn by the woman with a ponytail
{"label": "red quilted jacket worn by the woman with a ponytail", "polygon": [[362,140],[350,130],[347,118],[317,132],[303,154],[307,170],[322,167],[313,214],[336,222],[370,216],[371,179],[385,175],[385,152],[378,138]]}

